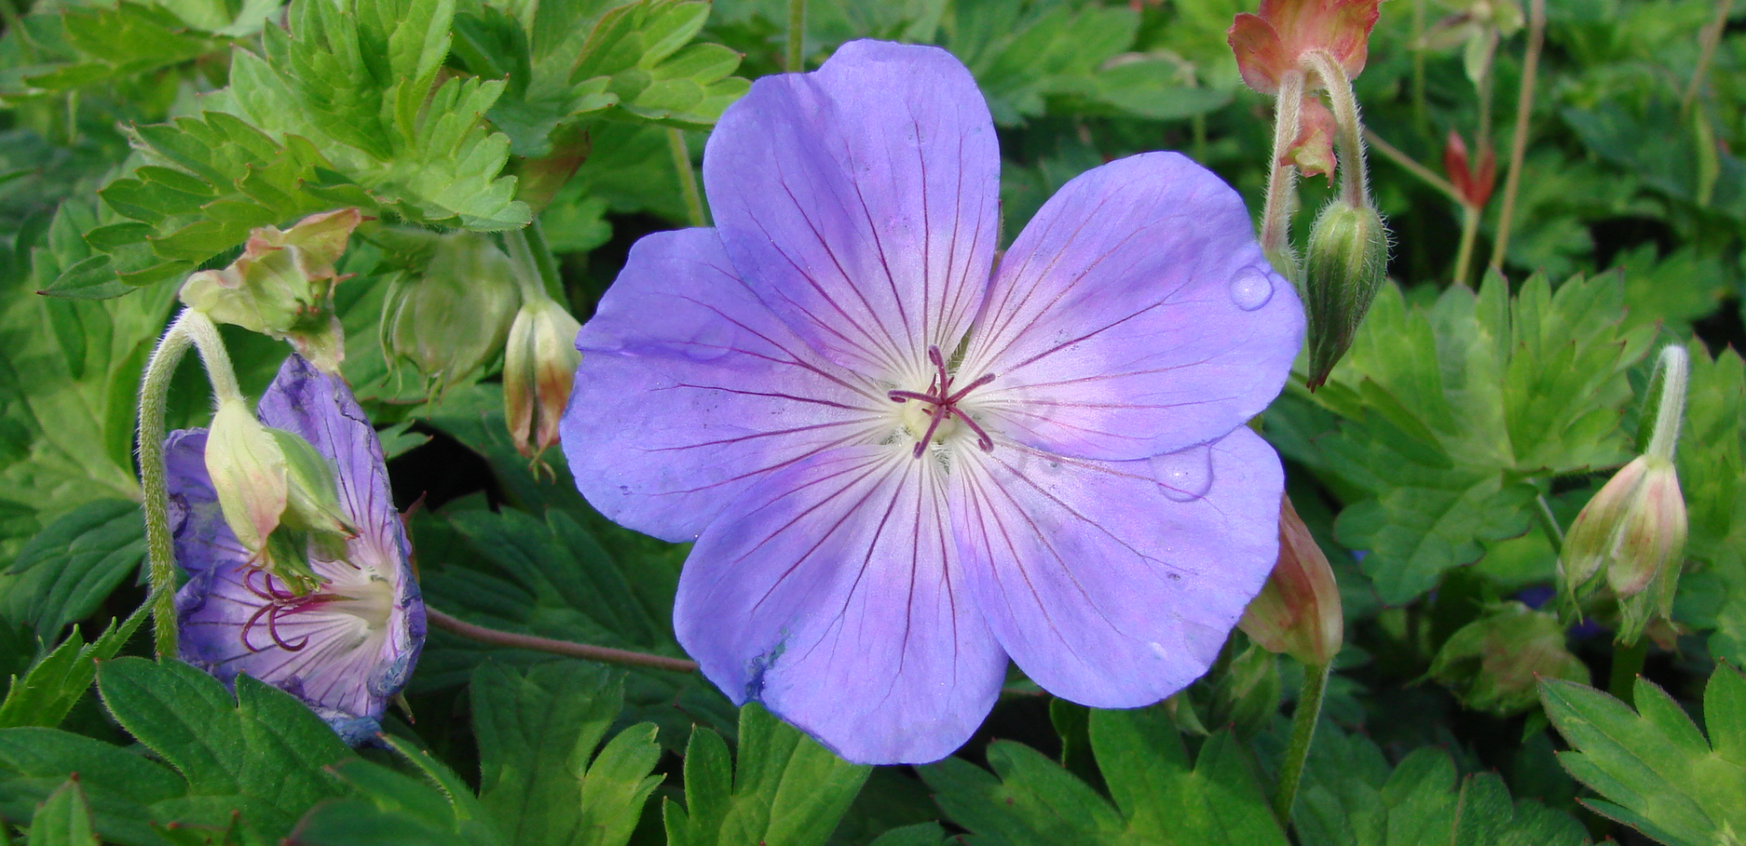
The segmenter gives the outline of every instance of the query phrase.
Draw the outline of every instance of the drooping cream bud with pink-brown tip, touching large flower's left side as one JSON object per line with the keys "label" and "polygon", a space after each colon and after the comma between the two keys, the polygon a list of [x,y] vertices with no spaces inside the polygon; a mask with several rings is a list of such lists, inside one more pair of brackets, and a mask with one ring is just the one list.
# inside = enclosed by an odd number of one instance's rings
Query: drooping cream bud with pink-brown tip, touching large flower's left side
{"label": "drooping cream bud with pink-brown tip, touching large flower's left side", "polygon": [[562,305],[541,297],[524,304],[503,349],[503,413],[515,448],[538,459],[557,443],[557,422],[576,380],[576,331]]}

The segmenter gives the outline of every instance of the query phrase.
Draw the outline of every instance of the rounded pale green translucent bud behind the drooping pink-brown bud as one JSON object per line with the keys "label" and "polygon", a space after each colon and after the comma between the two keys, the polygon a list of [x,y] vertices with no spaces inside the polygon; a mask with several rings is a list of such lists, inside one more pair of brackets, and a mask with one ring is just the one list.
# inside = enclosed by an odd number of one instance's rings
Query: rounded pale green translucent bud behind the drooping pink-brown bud
{"label": "rounded pale green translucent bud behind the drooping pink-brown bud", "polygon": [[515,267],[489,237],[440,235],[424,276],[402,277],[382,304],[382,352],[452,387],[503,349],[519,304]]}

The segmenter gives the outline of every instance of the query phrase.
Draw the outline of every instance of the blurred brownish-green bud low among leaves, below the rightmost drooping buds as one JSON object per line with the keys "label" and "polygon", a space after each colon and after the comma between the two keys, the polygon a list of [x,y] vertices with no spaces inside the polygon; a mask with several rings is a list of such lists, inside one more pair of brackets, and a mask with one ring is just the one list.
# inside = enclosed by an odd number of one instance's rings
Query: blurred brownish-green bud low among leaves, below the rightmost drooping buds
{"label": "blurred brownish-green bud low among leaves, below the rightmost drooping buds", "polygon": [[1505,602],[1449,635],[1430,677],[1468,708],[1507,717],[1540,701],[1542,677],[1587,684],[1589,668],[1566,649],[1556,616]]}

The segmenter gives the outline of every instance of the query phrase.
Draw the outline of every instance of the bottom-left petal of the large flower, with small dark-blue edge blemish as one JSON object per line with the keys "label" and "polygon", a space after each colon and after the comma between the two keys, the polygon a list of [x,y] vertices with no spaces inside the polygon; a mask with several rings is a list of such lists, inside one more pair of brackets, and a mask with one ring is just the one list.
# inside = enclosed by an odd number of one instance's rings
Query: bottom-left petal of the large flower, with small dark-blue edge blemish
{"label": "bottom-left petal of the large flower, with small dark-blue edge blemish", "polygon": [[857,762],[959,748],[1006,656],[964,584],[932,461],[843,447],[766,476],[698,537],[679,642],[735,703],[758,699]]}

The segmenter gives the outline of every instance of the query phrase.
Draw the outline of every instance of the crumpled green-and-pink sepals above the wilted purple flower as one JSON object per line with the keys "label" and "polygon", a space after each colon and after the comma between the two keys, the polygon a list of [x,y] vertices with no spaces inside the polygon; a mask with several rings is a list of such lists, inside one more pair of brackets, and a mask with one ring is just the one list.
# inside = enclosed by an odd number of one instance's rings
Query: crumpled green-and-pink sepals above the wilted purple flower
{"label": "crumpled green-and-pink sepals above the wilted purple flower", "polygon": [[218,323],[288,340],[325,372],[346,354],[333,314],[333,262],[365,218],[358,209],[311,215],[288,230],[250,232],[243,255],[223,270],[201,270],[182,284],[182,302]]}

